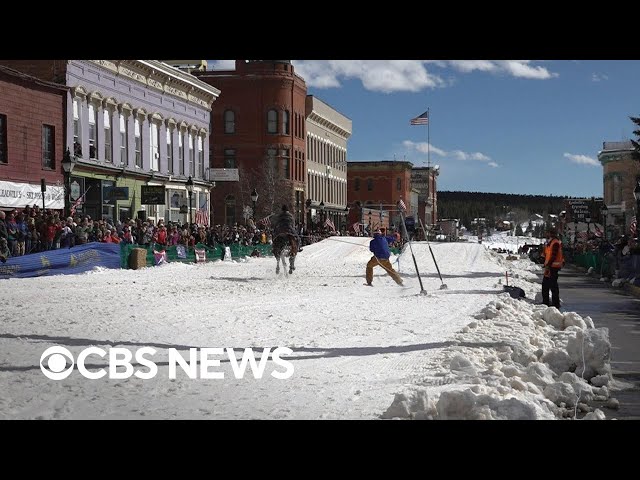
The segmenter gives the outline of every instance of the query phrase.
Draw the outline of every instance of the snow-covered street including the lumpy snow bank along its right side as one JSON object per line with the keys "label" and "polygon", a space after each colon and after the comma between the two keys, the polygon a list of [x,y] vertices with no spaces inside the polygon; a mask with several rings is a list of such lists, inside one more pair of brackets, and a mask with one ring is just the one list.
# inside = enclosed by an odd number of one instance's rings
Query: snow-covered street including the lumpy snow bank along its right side
{"label": "snow-covered street including the lumpy snow bank along its right side", "polygon": [[[534,305],[539,266],[508,261],[487,241],[436,243],[441,290],[427,243],[416,242],[426,295],[408,248],[391,258],[405,286],[378,267],[368,288],[369,240],[306,246],[289,276],[276,275],[273,258],[248,258],[2,281],[0,418],[566,418],[609,397],[606,331]],[[503,293],[505,271],[526,299]],[[150,346],[158,373],[50,380],[39,362],[53,345],[74,357]],[[212,368],[223,379],[168,375],[169,348],[187,358],[189,348],[240,357],[278,346],[293,351],[287,379],[270,375],[272,364],[261,378],[236,378],[224,356]]]}

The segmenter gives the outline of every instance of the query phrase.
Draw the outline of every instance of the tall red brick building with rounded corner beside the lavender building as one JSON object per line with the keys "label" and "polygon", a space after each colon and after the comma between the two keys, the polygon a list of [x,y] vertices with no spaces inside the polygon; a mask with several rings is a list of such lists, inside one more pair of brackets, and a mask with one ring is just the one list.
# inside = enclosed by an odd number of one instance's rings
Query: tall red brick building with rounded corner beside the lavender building
{"label": "tall red brick building with rounded corner beside the lavender building", "polygon": [[[244,222],[253,211],[254,189],[256,221],[283,203],[300,221],[307,173],[306,83],[290,60],[236,60],[235,67],[192,72],[221,91],[211,111],[214,222]],[[220,180],[235,178],[234,169],[238,181]]]}

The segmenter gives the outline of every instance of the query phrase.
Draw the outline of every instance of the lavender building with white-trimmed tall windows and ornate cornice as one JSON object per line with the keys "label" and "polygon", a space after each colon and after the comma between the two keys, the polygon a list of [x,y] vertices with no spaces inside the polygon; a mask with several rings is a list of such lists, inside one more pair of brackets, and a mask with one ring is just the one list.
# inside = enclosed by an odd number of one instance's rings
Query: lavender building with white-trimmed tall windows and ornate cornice
{"label": "lavender building with white-trimmed tall windows and ornate cornice", "polygon": [[[112,221],[138,216],[208,223],[209,125],[218,90],[157,60],[0,60],[0,65],[70,87],[58,112],[56,145],[60,151],[69,147],[73,156],[69,201],[82,201],[81,213]],[[142,203],[143,186],[159,187],[162,198]]]}

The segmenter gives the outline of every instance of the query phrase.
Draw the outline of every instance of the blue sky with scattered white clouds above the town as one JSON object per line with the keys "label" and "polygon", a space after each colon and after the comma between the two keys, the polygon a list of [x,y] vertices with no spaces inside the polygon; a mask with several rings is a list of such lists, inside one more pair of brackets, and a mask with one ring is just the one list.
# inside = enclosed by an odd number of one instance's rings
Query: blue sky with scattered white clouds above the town
{"label": "blue sky with scattered white clouds above the town", "polygon": [[[633,136],[635,60],[294,60],[317,96],[353,121],[347,159],[427,165],[439,190],[602,196],[604,141]],[[228,68],[233,61],[209,61]]]}

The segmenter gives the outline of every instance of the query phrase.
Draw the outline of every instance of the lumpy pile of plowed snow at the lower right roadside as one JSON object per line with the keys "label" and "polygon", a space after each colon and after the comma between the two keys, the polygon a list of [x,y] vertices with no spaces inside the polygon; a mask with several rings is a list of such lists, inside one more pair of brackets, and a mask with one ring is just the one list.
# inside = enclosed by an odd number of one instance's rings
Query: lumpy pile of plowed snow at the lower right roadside
{"label": "lumpy pile of plowed snow at the lower right roadside", "polygon": [[[440,378],[396,397],[382,418],[534,420],[575,418],[606,402],[611,380],[608,330],[502,294],[444,349]],[[610,399],[611,401],[613,399]]]}

